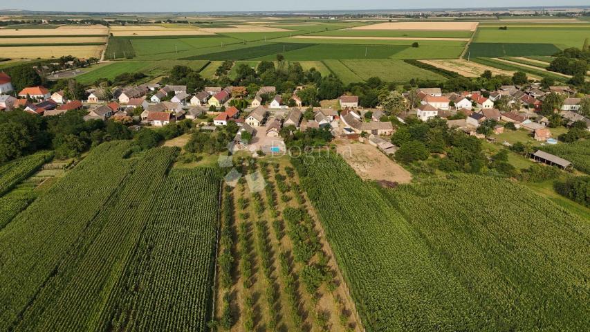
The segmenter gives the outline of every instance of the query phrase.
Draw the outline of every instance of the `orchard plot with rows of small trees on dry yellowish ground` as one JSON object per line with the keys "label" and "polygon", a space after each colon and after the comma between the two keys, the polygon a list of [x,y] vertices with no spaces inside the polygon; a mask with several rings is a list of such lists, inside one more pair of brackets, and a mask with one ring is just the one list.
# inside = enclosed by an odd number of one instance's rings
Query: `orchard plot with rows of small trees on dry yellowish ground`
{"label": "orchard plot with rows of small trees on dry yellowish ground", "polygon": [[225,187],[216,282],[221,327],[362,331],[293,168],[273,160],[242,166],[241,172],[267,185],[252,191],[248,179]]}

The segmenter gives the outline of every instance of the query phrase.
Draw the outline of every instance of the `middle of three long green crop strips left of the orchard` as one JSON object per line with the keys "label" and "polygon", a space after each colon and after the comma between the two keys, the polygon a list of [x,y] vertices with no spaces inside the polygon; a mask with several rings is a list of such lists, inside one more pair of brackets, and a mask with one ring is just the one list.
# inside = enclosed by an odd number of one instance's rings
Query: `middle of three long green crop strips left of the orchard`
{"label": "middle of three long green crop strips left of the orchard", "polygon": [[136,160],[133,171],[86,224],[22,313],[17,330],[82,331],[100,326],[175,156],[174,148],[158,148]]}

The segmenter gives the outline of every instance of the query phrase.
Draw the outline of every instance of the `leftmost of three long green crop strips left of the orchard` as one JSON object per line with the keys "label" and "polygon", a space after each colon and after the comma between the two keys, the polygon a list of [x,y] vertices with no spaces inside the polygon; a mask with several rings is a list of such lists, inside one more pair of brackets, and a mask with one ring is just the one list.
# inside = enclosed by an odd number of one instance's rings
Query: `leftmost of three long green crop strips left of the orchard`
{"label": "leftmost of three long green crop strips left of the orchard", "polygon": [[0,232],[0,330],[17,323],[19,313],[129,174],[133,162],[122,158],[130,147],[128,142],[96,147]]}

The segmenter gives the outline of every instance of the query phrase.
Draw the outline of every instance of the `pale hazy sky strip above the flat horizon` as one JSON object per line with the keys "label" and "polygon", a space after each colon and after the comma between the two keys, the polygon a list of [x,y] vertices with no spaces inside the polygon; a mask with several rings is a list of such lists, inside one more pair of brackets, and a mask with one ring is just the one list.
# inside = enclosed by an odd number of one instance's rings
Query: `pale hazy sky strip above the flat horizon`
{"label": "pale hazy sky strip above the flat horizon", "polygon": [[87,12],[210,12],[210,11],[272,11],[272,10],[372,10],[419,8],[470,8],[474,6],[580,6],[588,0],[497,0],[477,3],[472,0],[17,0],[0,4],[2,9],[87,11]]}

